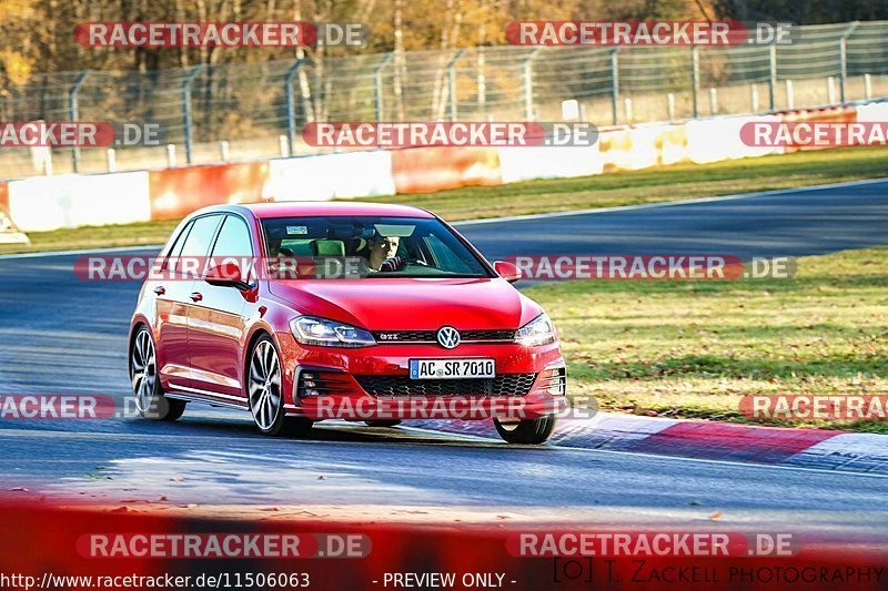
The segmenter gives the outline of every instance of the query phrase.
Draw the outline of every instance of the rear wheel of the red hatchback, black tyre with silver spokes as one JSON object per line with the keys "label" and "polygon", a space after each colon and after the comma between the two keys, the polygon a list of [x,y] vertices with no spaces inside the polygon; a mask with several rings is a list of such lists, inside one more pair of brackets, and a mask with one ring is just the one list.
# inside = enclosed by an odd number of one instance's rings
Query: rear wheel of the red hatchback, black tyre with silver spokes
{"label": "rear wheel of the red hatchback, black tyre with silver spokes", "polygon": [[185,411],[184,400],[167,398],[160,385],[157,345],[151,330],[139,327],[130,347],[130,381],[139,414],[151,420],[175,420]]}

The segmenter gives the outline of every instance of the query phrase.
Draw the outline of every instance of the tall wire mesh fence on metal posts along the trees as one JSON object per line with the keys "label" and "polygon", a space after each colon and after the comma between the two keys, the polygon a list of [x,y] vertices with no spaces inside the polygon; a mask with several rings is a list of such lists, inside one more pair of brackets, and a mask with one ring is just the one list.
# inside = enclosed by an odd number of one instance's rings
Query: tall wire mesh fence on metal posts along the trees
{"label": "tall wire mesh fence on metal posts along the trees", "polygon": [[[312,121],[555,121],[576,100],[597,125],[741,114],[888,96],[888,21],[801,27],[791,45],[480,47],[37,74],[0,93],[2,121],[157,125],[159,146],[53,151],[98,172],[315,151]],[[169,147],[173,146],[173,147]],[[28,149],[0,175],[44,174]]]}

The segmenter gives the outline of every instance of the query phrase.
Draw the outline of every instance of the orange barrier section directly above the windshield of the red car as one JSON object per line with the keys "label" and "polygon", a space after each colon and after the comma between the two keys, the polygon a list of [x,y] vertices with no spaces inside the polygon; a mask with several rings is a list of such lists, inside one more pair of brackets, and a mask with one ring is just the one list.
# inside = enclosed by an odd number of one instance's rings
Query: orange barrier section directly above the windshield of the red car
{"label": "orange barrier section directly above the windshield of the red car", "polygon": [[407,147],[392,151],[397,193],[428,193],[470,185],[501,185],[495,147]]}

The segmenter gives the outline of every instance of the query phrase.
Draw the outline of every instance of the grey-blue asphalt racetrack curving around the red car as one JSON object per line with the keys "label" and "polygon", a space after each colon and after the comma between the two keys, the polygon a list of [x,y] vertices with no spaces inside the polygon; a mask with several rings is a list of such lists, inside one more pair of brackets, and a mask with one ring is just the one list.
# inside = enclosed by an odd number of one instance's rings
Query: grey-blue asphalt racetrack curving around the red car
{"label": "grey-blue asphalt racetrack curving around the red car", "polygon": [[[599,213],[460,224],[488,258],[521,254],[809,255],[888,243],[888,181]],[[142,251],[144,253],[144,251]],[[139,285],[84,283],[78,255],[0,259],[0,394],[129,396]],[[190,405],[142,419],[0,421],[0,492],[89,502],[281,506],[314,517],[791,528],[888,538],[876,475],[525,448],[345,424],[307,440]]]}

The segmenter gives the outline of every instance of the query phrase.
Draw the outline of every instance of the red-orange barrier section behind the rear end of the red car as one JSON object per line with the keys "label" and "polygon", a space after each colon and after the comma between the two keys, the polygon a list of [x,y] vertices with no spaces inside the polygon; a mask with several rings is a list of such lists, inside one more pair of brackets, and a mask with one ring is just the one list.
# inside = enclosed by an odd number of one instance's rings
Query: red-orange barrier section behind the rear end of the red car
{"label": "red-orange barrier section behind the rear end of the red car", "polygon": [[268,162],[151,171],[151,220],[176,220],[208,205],[262,201]]}

